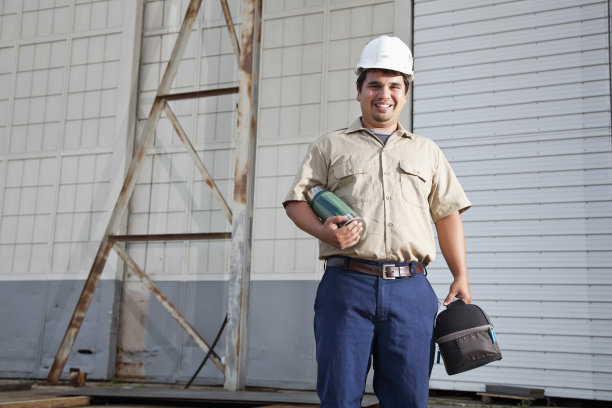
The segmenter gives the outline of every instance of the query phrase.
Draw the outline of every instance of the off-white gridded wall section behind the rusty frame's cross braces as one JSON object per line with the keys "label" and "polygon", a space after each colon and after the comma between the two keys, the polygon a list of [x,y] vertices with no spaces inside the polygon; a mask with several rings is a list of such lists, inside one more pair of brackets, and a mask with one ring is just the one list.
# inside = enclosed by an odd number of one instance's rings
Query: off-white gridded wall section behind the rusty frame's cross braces
{"label": "off-white gridded wall section behind the rusty frame's cross braces", "polygon": [[[189,1],[147,0],[144,10],[138,103],[139,133]],[[240,2],[229,2],[240,36]],[[238,86],[238,65],[220,2],[204,1],[171,93]],[[173,112],[219,186],[232,203],[236,95],[170,102]],[[128,232],[161,234],[229,232],[230,223],[202,180],[185,147],[162,115],[156,138],[130,203]],[[229,241],[154,242],[130,244],[130,255],[156,280],[223,280],[227,275]],[[135,276],[127,287],[141,285]]]}

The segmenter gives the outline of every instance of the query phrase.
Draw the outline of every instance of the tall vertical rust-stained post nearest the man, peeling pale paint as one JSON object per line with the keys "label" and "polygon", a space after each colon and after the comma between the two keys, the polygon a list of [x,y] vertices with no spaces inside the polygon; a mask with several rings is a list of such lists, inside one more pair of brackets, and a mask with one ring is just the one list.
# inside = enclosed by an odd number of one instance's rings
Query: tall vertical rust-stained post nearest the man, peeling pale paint
{"label": "tall vertical rust-stained post nearest the man, peeling pale paint", "polygon": [[225,342],[224,387],[228,391],[246,387],[262,4],[262,0],[242,2],[238,134]]}

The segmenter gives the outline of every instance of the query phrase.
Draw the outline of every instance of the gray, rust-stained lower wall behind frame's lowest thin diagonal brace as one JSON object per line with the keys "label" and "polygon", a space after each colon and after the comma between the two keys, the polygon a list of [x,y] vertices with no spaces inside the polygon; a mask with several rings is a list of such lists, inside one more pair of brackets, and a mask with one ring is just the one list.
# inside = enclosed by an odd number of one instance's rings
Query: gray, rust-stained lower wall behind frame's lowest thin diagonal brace
{"label": "gray, rust-stained lower wall behind frame's lowest thin diagonal brace", "polygon": [[[226,309],[223,282],[156,283],[170,302],[212,344]],[[126,284],[122,301],[122,326],[117,362],[119,378],[136,381],[187,382],[196,372],[205,353],[195,344],[162,305],[139,282]],[[225,336],[215,351],[223,355]],[[198,381],[223,384],[223,376],[210,362]]]}

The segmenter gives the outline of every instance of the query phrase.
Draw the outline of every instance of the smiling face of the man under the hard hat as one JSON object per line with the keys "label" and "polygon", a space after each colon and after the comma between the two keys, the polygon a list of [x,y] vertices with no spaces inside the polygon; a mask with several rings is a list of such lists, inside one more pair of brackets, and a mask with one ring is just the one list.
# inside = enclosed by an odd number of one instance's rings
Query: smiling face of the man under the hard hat
{"label": "smiling face of the man under the hard hat", "polygon": [[357,100],[361,103],[364,127],[394,131],[406,104],[404,78],[396,73],[370,70],[361,91],[357,88]]}

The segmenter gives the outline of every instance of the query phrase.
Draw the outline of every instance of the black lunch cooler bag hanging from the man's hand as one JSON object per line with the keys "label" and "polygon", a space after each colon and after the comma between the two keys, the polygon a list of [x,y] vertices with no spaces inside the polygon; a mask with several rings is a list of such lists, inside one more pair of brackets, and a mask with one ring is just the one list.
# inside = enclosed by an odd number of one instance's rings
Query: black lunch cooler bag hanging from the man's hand
{"label": "black lunch cooler bag hanging from the man's hand", "polygon": [[448,375],[501,360],[501,350],[489,316],[463,300],[451,302],[436,317],[436,343]]}

